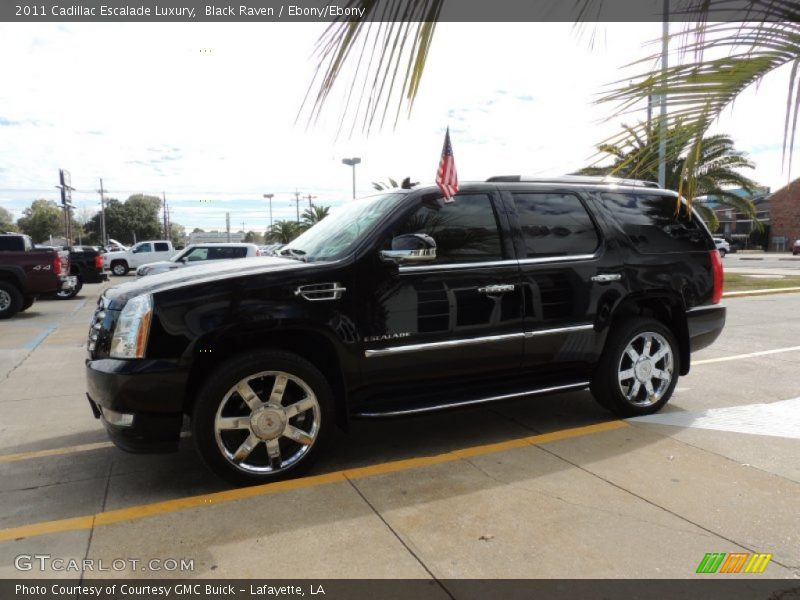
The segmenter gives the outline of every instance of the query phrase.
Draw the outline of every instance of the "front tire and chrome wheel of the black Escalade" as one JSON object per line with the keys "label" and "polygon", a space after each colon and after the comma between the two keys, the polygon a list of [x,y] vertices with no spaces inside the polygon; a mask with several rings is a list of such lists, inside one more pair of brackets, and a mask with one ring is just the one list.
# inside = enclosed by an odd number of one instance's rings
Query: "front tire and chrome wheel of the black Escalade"
{"label": "front tire and chrome wheel of the black Escalade", "polygon": [[280,351],[239,355],[200,390],[192,437],[203,462],[236,485],[305,472],[333,429],[333,393],[304,358]]}

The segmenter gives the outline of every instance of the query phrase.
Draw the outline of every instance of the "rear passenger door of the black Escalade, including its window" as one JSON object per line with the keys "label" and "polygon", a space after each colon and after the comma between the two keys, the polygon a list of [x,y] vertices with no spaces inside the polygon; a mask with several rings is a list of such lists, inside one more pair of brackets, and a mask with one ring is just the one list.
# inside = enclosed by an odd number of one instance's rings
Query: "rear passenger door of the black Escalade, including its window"
{"label": "rear passenger door of the black Escalade, including its window", "polygon": [[598,306],[622,279],[587,199],[570,190],[504,194],[525,294],[524,367],[554,380],[588,376],[600,351]]}

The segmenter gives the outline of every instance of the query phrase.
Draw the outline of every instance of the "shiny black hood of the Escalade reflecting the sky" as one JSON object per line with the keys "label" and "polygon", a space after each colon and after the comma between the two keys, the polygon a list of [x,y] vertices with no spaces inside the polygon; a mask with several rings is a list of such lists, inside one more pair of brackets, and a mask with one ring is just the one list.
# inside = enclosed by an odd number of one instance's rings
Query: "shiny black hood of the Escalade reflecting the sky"
{"label": "shiny black hood of the Escalade reflecting the sky", "polygon": [[104,296],[111,301],[109,308],[120,310],[130,298],[140,294],[155,294],[165,290],[248,275],[308,269],[323,264],[325,263],[304,263],[299,260],[274,256],[226,260],[210,265],[193,266],[191,269],[176,269],[158,275],[148,275],[109,288]]}

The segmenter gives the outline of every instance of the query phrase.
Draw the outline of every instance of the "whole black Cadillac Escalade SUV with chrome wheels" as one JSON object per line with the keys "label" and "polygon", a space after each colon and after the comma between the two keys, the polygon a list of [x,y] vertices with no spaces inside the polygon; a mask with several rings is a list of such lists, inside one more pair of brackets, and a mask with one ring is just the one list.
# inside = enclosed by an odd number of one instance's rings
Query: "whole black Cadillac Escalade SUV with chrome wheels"
{"label": "whole black Cadillac Escalade SUV with chrome wheels", "polygon": [[669,400],[725,323],[703,222],[646,182],[494,177],[352,201],[279,257],[100,298],[88,396],[130,451],[185,415],[236,483],[295,475],[335,425],[589,388],[618,415]]}

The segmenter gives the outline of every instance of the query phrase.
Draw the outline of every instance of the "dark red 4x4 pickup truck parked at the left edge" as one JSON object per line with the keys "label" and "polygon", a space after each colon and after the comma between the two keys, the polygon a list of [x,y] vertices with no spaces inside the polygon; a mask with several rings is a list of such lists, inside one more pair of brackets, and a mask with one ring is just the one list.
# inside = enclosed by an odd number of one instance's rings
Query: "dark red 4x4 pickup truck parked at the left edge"
{"label": "dark red 4x4 pickup truck parked at the left edge", "polygon": [[69,252],[33,247],[27,235],[0,235],[0,319],[27,310],[40,294],[72,290]]}

